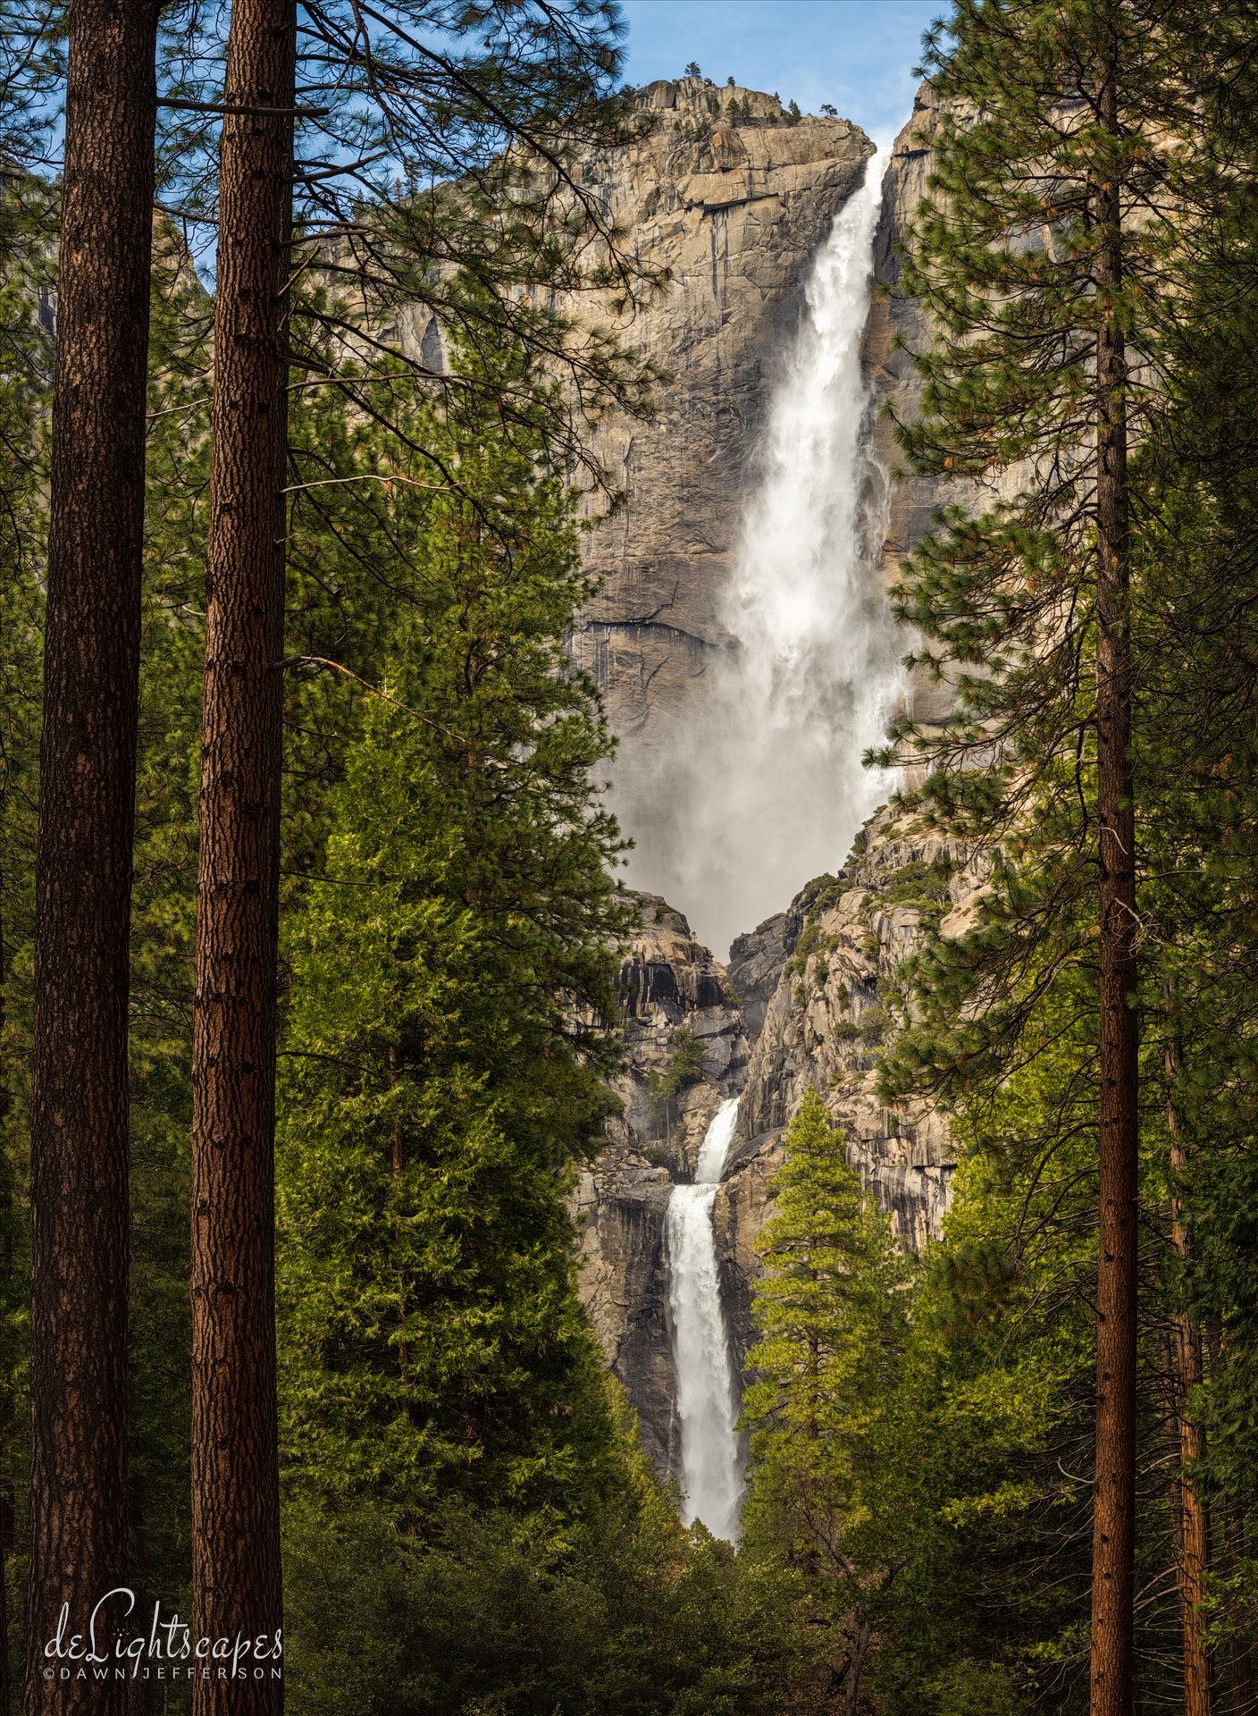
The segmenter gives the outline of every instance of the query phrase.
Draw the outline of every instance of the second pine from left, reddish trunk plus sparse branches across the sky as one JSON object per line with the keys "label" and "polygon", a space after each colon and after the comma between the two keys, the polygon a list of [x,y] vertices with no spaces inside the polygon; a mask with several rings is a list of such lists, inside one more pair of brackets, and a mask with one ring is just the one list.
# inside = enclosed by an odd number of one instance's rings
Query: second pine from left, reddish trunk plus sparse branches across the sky
{"label": "second pine from left, reddish trunk plus sparse branches across the sky", "polygon": [[[614,26],[587,0],[561,15],[525,9],[518,22],[518,38],[499,34],[496,15],[469,9],[453,33],[472,36],[481,58],[448,60],[419,41],[426,24],[448,33],[451,19],[439,7],[374,15],[379,27],[366,46],[357,7],[324,7],[300,51],[292,0],[232,9],[192,1047],[194,1594],[197,1625],[209,1635],[269,1632],[280,1610],[271,1227],[290,360],[299,355],[324,378],[331,371],[352,391],[360,350],[379,347],[371,314],[400,300],[424,304],[436,281],[453,281],[443,295],[453,326],[484,336],[486,326],[518,321],[525,340],[572,353],[578,410],[614,388],[620,371],[597,335],[570,341],[563,319],[518,290],[544,283],[544,305],[584,237],[613,239],[599,201],[566,165],[573,139],[565,132],[585,129],[590,98],[616,69]],[[316,94],[333,100],[316,103]],[[300,214],[316,228],[333,211],[340,216],[333,223],[350,252],[338,266],[357,276],[367,307],[357,316],[343,305],[311,309],[311,323],[336,343],[333,366],[326,343],[299,350],[300,326],[288,314],[299,98],[302,118],[323,127],[328,156],[345,163],[342,175],[321,158],[304,182]],[[594,129],[606,136],[602,122]],[[453,149],[446,136],[458,139]],[[400,156],[419,175],[415,196],[384,192],[372,209],[379,218],[362,220],[362,175],[381,160],[391,175]],[[432,160],[453,161],[457,187],[432,189]],[[319,232],[305,242],[316,251],[307,249],[304,264],[321,261]],[[515,276],[511,263],[522,264]],[[609,242],[592,278],[625,283],[630,273]],[[395,369],[412,386],[417,376],[431,379],[426,362],[398,357]],[[511,395],[498,405],[510,422]],[[563,426],[568,415],[554,412],[549,422]],[[396,431],[396,412],[384,420]],[[566,431],[559,439],[572,450]],[[197,1683],[197,1709],[218,1709],[227,1695]]]}

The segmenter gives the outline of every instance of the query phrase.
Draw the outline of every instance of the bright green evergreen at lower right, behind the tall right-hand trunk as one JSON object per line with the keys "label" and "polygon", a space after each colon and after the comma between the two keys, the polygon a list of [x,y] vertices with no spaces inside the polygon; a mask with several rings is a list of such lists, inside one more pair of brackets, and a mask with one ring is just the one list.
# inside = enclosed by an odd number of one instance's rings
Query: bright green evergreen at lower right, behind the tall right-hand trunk
{"label": "bright green evergreen at lower right, behind the tall right-hand trunk", "polygon": [[[903,1558],[877,1685],[896,1713],[1088,1707],[1097,1232],[1095,978],[1059,982],[1023,1062],[953,1117],[961,1167],[913,1296],[880,1527]],[[1164,1196],[1158,1141],[1141,1193]],[[1150,1239],[1138,1350],[1136,1658],[1176,1701],[1167,1270]],[[913,1450],[904,1457],[904,1448]]]}

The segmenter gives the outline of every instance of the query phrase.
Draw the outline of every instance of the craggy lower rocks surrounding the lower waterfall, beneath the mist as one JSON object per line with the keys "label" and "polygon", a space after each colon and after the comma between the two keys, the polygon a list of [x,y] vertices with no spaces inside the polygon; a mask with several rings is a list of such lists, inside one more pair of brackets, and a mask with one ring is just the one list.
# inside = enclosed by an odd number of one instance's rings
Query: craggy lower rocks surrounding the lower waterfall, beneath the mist
{"label": "craggy lower rocks surrounding the lower waterfall, beneath the mist", "polygon": [[[649,923],[621,970],[625,1114],[582,1177],[577,1215],[582,1297],[664,1476],[680,1476],[664,1246],[673,1184],[693,1175],[709,1121],[738,1093],[738,1129],[712,1220],[740,1371],[753,1340],[755,1239],[784,1129],[808,1088],[822,1093],[844,1131],[848,1160],[891,1211],[901,1242],[920,1249],[937,1236],[954,1169],[949,1133],[935,1114],[880,1103],[877,1055],[896,970],[920,946],[927,921],[944,934],[970,923],[983,880],[963,848],[896,832],[880,813],[838,875],[810,882],[788,911],[735,944],[729,971],[693,942],[680,913],[644,896]],[[753,1042],[748,1014],[762,1018]],[[680,1055],[692,1076],[669,1093]]]}

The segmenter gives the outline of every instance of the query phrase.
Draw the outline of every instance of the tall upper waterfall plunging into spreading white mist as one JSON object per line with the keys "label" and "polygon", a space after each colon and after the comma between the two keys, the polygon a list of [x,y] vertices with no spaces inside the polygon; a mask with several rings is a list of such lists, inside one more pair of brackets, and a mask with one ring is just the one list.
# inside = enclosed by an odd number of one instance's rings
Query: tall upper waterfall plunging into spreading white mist
{"label": "tall upper waterfall plunging into spreading white mist", "polygon": [[621,791],[635,882],[719,952],[836,870],[887,791],[860,760],[903,683],[862,371],[884,166],[879,151],[812,264],[723,606],[731,644],[668,755]]}

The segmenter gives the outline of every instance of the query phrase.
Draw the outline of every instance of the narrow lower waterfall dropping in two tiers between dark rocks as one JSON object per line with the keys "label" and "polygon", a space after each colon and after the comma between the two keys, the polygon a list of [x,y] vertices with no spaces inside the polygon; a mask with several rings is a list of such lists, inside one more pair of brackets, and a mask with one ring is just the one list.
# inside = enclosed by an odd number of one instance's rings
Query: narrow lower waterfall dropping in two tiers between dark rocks
{"label": "narrow lower waterfall dropping in two tiers between dark rocks", "polygon": [[664,1227],[673,1313],[673,1371],[681,1419],[681,1489],[686,1526],[738,1536],[738,1388],[721,1308],[712,1206],[738,1124],[738,1098],[721,1103],[699,1151],[693,1186],[674,1186]]}

